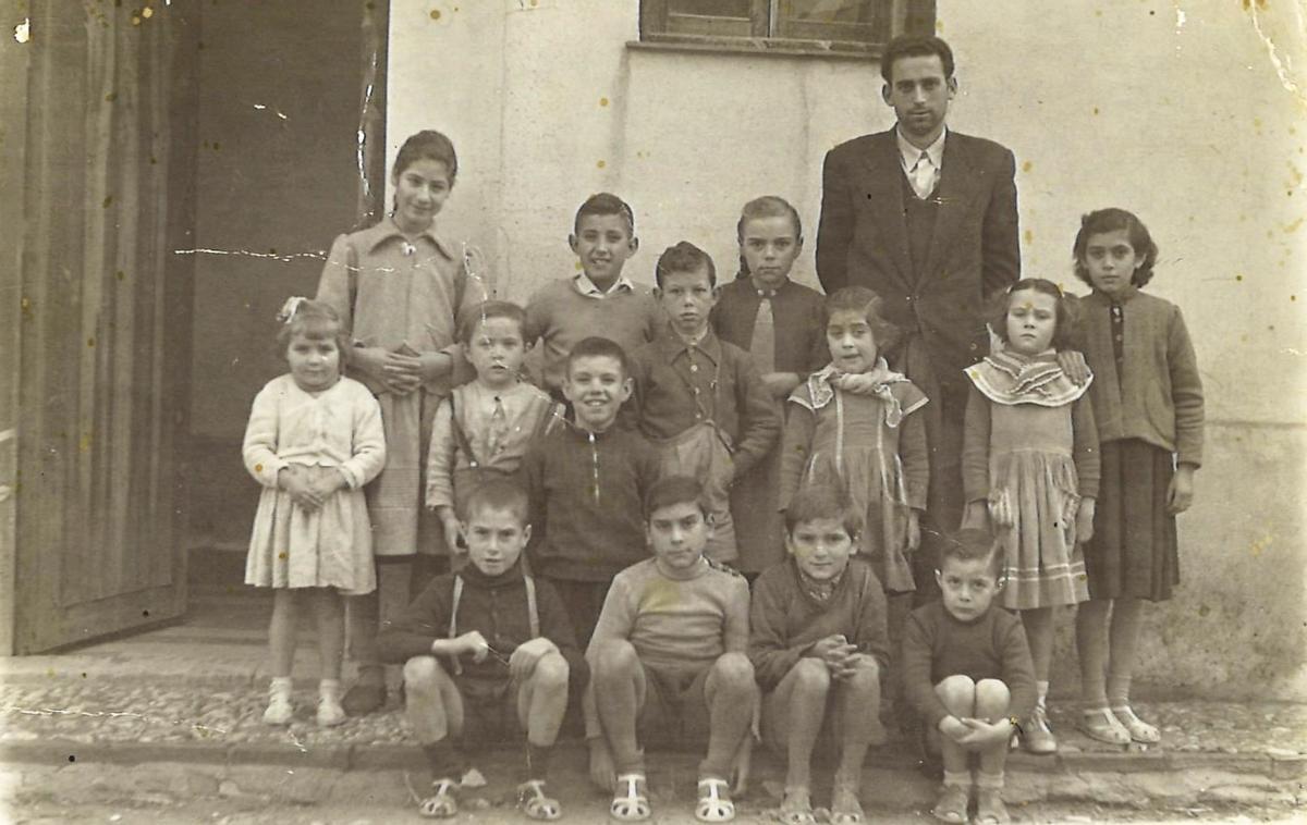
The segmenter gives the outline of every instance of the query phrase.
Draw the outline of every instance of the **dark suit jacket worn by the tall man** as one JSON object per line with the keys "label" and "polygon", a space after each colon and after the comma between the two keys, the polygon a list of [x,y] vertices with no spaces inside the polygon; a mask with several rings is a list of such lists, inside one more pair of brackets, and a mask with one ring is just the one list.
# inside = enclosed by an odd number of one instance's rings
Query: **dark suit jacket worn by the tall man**
{"label": "dark suit jacket worn by the tall man", "polygon": [[962,369],[989,351],[985,299],[1021,270],[1016,161],[999,144],[950,129],[942,166],[929,256],[914,266],[894,129],[831,149],[822,171],[817,277],[827,294],[859,285],[880,295],[886,320],[920,335],[933,380],[965,392]]}

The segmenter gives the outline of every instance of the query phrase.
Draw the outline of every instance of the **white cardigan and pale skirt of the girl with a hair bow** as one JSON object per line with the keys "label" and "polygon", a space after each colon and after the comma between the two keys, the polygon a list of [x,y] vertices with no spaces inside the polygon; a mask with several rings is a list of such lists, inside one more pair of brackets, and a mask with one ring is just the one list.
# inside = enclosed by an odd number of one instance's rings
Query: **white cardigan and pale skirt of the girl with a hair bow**
{"label": "white cardigan and pale skirt of the girl with a hair bow", "polygon": [[[363,484],[386,463],[382,412],[366,386],[341,379],[314,396],[289,375],[254,399],[244,465],[263,484],[246,559],[246,584],[336,587],[346,595],[376,587],[372,530]],[[344,473],[348,486],[308,512],[277,488],[277,473]]]}

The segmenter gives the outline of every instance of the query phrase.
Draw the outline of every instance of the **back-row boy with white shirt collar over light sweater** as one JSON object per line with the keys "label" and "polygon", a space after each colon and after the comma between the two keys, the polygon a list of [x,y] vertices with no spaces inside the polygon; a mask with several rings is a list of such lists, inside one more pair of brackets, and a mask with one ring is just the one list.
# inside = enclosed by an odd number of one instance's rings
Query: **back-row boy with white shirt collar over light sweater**
{"label": "back-row boy with white shirt collar over light sweater", "polygon": [[631,208],[616,195],[592,195],[576,210],[572,228],[567,244],[582,272],[541,287],[527,303],[527,342],[541,342],[541,385],[555,399],[563,396],[567,354],[582,338],[603,335],[630,354],[664,322],[648,287],[622,274],[640,247]]}

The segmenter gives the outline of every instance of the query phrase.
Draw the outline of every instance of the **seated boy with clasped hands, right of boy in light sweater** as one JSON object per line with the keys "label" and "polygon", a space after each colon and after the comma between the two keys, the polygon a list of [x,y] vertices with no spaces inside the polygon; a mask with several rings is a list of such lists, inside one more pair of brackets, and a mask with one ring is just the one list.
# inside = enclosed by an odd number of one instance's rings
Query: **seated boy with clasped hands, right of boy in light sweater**
{"label": "seated boy with clasped hands, right of boy in light sweater", "polygon": [[842,490],[813,484],[786,510],[789,557],[754,585],[749,659],[763,691],[762,738],[788,757],[782,818],[813,822],[810,762],[818,734],[835,734],[833,822],[860,822],[867,748],[881,736],[880,677],[889,658],[885,594],[853,553],[861,514]]}

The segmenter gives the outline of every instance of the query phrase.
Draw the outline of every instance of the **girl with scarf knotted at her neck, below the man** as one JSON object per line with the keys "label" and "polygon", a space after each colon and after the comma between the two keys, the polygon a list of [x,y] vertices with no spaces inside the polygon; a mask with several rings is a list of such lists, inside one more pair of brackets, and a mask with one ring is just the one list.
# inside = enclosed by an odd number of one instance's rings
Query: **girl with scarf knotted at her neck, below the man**
{"label": "girl with scarf knotted at her neck, below the man", "polygon": [[931,474],[925,423],[916,415],[927,398],[881,356],[898,330],[885,321],[874,292],[844,287],[826,299],[826,316],[830,364],[789,396],[780,509],[800,487],[833,483],[848,492],[863,513],[859,552],[885,589],[890,649],[897,650],[916,589],[907,556],[920,544]]}

